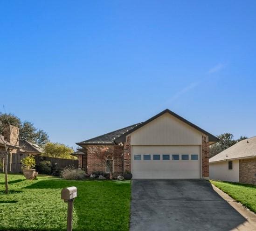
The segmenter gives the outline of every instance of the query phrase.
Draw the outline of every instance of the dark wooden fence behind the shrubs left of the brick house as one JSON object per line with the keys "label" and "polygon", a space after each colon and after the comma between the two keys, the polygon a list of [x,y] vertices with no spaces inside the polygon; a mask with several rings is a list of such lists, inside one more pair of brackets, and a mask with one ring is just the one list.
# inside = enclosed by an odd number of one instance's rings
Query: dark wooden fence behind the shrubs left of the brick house
{"label": "dark wooden fence behind the shrubs left of the brick house", "polygon": [[[10,170],[13,173],[22,172],[21,170],[21,160],[28,156],[28,154],[12,154],[12,163],[11,166],[8,166],[8,170]],[[58,169],[63,169],[68,166],[74,166],[75,168],[78,168],[78,160],[70,160],[70,159],[59,159],[59,158],[53,158],[48,156],[34,156],[35,157],[35,163],[39,164],[41,161],[47,160],[50,161],[52,165],[56,165]]]}

